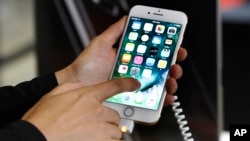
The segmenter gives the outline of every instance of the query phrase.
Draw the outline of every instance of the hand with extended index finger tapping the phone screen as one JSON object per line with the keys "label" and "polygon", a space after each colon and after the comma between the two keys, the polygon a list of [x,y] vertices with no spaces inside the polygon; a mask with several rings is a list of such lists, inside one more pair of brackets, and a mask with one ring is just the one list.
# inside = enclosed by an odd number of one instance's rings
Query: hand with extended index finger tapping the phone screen
{"label": "hand with extended index finger tapping the phone screen", "polygon": [[82,87],[82,83],[59,85],[22,118],[35,125],[49,141],[118,141],[119,114],[103,106],[105,99],[140,87],[132,78],[113,79]]}

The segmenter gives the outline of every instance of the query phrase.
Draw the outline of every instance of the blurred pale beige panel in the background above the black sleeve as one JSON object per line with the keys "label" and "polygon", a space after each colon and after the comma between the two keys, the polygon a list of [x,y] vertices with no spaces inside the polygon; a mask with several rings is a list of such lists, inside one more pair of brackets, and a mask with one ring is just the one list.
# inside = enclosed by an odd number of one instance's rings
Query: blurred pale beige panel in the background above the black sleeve
{"label": "blurred pale beige panel in the background above the black sleeve", "polygon": [[0,85],[37,76],[33,0],[0,0]]}

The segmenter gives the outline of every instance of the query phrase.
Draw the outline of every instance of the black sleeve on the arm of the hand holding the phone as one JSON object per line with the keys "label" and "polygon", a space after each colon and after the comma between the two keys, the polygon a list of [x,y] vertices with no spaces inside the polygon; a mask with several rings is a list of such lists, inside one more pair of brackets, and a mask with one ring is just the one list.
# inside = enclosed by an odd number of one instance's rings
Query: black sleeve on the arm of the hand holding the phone
{"label": "black sleeve on the arm of the hand holding the phone", "polygon": [[19,120],[44,94],[55,86],[54,74],[38,77],[16,86],[0,88],[0,127]]}

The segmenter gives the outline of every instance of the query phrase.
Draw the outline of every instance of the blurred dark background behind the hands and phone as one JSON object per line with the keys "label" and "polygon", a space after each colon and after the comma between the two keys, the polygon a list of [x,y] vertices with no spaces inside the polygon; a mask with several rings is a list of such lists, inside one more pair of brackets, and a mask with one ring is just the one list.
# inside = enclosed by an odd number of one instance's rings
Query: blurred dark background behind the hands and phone
{"label": "blurred dark background behind the hands and phone", "polygon": [[[0,0],[0,85],[65,67],[135,4],[189,17],[183,40],[189,56],[177,95],[194,139],[217,141],[217,131],[227,135],[230,124],[249,123],[249,0]],[[136,124],[133,137],[183,140],[170,106],[156,125]]]}

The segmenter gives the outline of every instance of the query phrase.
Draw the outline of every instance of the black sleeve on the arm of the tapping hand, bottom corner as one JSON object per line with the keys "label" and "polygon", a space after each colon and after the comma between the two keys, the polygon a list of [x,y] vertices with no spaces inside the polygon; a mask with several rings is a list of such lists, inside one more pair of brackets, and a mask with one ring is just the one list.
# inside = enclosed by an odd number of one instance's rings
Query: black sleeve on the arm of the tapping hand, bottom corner
{"label": "black sleeve on the arm of the tapping hand, bottom corner", "polygon": [[26,121],[16,121],[0,129],[1,141],[46,141],[43,134]]}

